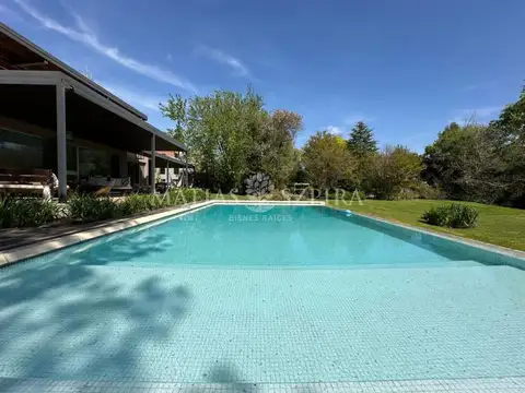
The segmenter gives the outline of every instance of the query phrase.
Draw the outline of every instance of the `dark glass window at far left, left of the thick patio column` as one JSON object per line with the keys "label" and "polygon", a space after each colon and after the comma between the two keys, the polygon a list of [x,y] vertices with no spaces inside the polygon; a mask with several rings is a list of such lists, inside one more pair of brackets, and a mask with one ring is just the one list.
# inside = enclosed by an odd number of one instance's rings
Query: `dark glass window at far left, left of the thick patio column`
{"label": "dark glass window at far left, left of the thick patio column", "polygon": [[22,132],[0,129],[1,168],[43,168],[44,141]]}

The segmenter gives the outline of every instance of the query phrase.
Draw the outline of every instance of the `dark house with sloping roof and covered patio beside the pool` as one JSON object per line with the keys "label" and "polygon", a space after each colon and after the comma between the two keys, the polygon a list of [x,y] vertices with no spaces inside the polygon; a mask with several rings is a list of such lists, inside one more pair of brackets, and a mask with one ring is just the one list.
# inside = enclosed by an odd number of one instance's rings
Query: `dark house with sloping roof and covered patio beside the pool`
{"label": "dark house with sloping roof and covered patio beside the pool", "polygon": [[187,168],[186,151],[144,114],[0,23],[0,168],[51,169],[60,198],[96,175],[129,177],[154,192],[155,168]]}

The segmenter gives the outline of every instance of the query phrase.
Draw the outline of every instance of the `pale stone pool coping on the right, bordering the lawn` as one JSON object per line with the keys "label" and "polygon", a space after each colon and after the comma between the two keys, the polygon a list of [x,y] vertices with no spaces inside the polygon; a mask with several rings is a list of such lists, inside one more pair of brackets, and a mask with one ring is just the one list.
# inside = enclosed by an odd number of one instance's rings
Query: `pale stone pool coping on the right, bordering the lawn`
{"label": "pale stone pool coping on the right, bordering the lawn", "polygon": [[511,248],[508,248],[508,247],[492,245],[492,243],[488,243],[488,242],[480,241],[480,240],[467,239],[467,238],[456,236],[456,235],[443,234],[443,233],[438,233],[438,231],[434,231],[434,230],[427,230],[427,229],[423,229],[423,228],[420,228],[420,227],[417,227],[417,226],[413,226],[413,225],[409,225],[409,224],[405,224],[405,223],[400,223],[400,222],[396,222],[396,221],[392,221],[392,219],[387,219],[387,218],[383,218],[383,217],[377,217],[377,216],[374,216],[374,215],[357,213],[357,212],[352,211],[351,209],[340,209],[340,207],[330,206],[328,204],[326,205],[326,207],[332,209],[332,210],[339,211],[339,212],[351,212],[352,215],[355,215],[358,217],[362,217],[362,218],[365,218],[365,219],[372,219],[372,221],[376,221],[376,222],[380,222],[380,223],[383,223],[383,224],[394,225],[394,226],[401,227],[404,229],[412,230],[412,231],[416,231],[416,233],[420,233],[420,234],[423,234],[423,235],[434,236],[434,237],[438,237],[438,238],[441,238],[441,239],[444,239],[444,240],[458,242],[458,243],[467,246],[467,247],[475,247],[475,248],[481,249],[483,251],[494,252],[497,254],[517,260],[520,263],[517,265],[515,265],[515,267],[525,270],[525,251],[520,251],[520,250],[511,249]]}

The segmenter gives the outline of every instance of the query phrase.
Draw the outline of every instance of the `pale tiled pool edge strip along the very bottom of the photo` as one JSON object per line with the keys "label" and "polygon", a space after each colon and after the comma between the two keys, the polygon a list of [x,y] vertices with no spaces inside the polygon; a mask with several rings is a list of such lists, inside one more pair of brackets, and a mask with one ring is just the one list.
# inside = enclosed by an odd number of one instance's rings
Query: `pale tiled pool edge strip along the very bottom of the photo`
{"label": "pale tiled pool edge strip along the very bottom of the photo", "polygon": [[49,380],[42,378],[0,378],[16,392],[91,392],[91,393],[167,393],[167,392],[236,392],[236,393],[517,393],[525,389],[524,377],[487,377],[462,379],[350,381],[350,382],[149,382],[105,380]]}

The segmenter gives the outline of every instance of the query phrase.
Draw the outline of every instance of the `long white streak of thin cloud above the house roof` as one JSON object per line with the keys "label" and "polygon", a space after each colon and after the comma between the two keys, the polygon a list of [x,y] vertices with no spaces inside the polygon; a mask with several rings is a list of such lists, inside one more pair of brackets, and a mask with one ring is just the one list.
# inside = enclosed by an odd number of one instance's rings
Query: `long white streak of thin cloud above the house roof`
{"label": "long white streak of thin cloud above the house roof", "polygon": [[65,26],[59,22],[42,14],[38,10],[23,0],[14,1],[25,13],[37,20],[44,27],[60,33],[72,40],[82,43],[129,70],[132,70],[152,80],[180,87],[187,92],[197,92],[196,86],[184,78],[180,78],[173,72],[162,69],[158,66],[143,63],[129,56],[126,56],[125,53],[121,53],[118,48],[112,48],[102,44],[98,37],[88,27],[82,17],[73,12],[71,12],[71,14],[75,21],[77,28]]}

